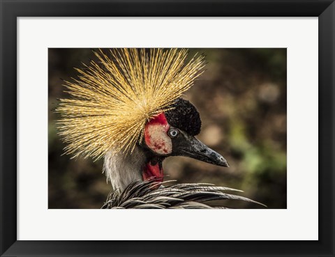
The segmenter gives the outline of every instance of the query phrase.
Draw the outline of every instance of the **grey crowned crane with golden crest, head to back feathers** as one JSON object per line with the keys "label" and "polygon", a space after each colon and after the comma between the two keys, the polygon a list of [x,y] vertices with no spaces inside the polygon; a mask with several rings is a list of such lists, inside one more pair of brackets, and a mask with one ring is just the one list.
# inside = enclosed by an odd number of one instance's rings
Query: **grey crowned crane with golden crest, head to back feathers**
{"label": "grey crowned crane with golden crest, head to back feathers", "polygon": [[[103,158],[112,192],[103,208],[212,208],[212,200],[248,198],[207,184],[164,185],[163,161],[191,157],[229,167],[195,136],[200,114],[182,98],[204,71],[204,56],[187,49],[110,49],[65,81],[58,130],[72,157]],[[257,203],[257,202],[255,202]]]}

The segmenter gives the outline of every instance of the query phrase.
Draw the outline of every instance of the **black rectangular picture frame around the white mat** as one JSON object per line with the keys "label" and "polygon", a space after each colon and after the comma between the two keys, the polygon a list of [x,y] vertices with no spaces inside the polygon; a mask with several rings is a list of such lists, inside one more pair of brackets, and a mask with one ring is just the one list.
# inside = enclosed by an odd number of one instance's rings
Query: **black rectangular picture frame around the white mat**
{"label": "black rectangular picture frame around the white mat", "polygon": [[[334,256],[334,0],[1,0],[0,3],[1,256]],[[20,124],[17,124],[17,17],[40,16],[318,17],[319,240],[18,241],[17,125]],[[311,122],[316,121],[311,120]],[[307,144],[308,139],[306,139]],[[308,206],[306,206],[306,212],[308,212]],[[159,240],[159,233],[157,239]]]}

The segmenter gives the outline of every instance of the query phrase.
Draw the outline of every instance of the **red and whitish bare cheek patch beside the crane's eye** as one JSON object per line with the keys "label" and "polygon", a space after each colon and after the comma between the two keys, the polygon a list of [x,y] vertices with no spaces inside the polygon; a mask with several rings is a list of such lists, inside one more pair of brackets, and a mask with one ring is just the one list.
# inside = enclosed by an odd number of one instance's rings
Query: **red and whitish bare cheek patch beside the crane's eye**
{"label": "red and whitish bare cheek patch beside the crane's eye", "polygon": [[172,153],[172,141],[168,136],[170,125],[162,112],[150,120],[144,127],[144,140],[147,146],[159,155]]}

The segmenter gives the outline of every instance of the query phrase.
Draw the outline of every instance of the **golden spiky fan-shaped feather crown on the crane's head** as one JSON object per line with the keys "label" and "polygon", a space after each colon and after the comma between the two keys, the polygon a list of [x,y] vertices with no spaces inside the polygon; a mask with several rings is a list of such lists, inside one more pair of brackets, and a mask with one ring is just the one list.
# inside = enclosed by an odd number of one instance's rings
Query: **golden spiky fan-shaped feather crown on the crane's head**
{"label": "golden spiky fan-shaped feather crown on the crane's head", "polygon": [[203,56],[186,62],[186,49],[111,49],[94,52],[77,79],[65,81],[71,99],[61,99],[59,134],[73,157],[99,159],[107,151],[133,150],[144,125],[193,86]]}

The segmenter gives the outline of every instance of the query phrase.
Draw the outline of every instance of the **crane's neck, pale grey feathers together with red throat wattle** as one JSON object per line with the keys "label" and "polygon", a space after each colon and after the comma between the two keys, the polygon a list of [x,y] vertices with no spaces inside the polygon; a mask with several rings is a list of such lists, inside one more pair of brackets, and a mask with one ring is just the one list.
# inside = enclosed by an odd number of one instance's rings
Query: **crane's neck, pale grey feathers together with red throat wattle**
{"label": "crane's neck, pale grey feathers together with red throat wattle", "polygon": [[155,157],[148,150],[135,146],[132,153],[113,153],[105,155],[103,171],[114,189],[121,192],[131,182],[156,178],[163,181],[163,158]]}

